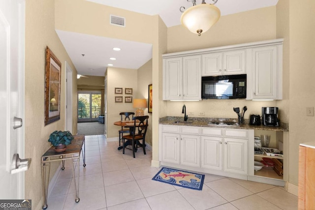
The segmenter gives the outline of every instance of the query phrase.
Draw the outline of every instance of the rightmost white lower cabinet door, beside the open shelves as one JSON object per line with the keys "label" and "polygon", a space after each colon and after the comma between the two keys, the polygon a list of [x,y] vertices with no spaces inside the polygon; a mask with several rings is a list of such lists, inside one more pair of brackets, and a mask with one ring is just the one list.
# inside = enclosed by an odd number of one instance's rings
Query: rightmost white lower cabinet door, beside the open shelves
{"label": "rightmost white lower cabinet door, beside the open shelves", "polygon": [[224,138],[225,172],[247,174],[247,140]]}

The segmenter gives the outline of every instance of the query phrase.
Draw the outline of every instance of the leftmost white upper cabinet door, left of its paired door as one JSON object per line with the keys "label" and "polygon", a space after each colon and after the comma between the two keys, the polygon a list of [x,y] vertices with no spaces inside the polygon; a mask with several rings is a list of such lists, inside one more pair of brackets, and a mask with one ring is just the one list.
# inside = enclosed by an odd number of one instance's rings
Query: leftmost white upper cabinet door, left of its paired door
{"label": "leftmost white upper cabinet door, left of its paired door", "polygon": [[163,100],[181,100],[183,87],[182,58],[164,59]]}

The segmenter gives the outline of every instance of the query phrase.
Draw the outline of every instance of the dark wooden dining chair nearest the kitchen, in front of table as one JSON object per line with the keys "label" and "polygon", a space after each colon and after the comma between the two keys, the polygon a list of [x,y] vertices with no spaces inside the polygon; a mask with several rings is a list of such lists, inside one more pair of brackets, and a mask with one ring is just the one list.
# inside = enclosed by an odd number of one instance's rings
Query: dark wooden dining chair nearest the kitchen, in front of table
{"label": "dark wooden dining chair nearest the kitchen, in front of table", "polygon": [[[143,148],[143,153],[146,154],[146,133],[148,129],[148,118],[149,116],[138,116],[132,118],[134,120],[133,125],[133,132],[129,135],[123,136],[123,154],[125,154],[125,142],[130,141],[132,149],[133,158],[135,158],[135,152],[138,150],[139,147]],[[142,144],[140,144],[140,140],[142,140]]]}

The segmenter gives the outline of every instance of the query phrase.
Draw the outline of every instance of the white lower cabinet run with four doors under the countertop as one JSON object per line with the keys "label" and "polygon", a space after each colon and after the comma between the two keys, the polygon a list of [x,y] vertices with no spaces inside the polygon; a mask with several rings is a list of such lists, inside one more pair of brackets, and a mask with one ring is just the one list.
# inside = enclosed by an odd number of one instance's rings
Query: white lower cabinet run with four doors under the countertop
{"label": "white lower cabinet run with four doors under the countertop", "polygon": [[160,125],[160,135],[164,163],[221,171],[223,176],[248,174],[246,129]]}

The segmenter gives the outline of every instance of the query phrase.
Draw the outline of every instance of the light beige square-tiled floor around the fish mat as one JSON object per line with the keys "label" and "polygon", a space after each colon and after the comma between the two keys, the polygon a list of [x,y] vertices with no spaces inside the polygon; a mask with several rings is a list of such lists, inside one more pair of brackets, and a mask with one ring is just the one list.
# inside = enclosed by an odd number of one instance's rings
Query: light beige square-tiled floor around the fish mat
{"label": "light beige square-tiled floor around the fish mat", "polygon": [[[48,198],[48,210],[296,210],[297,197],[283,187],[206,174],[202,191],[151,180],[152,152],[117,150],[103,135],[86,136],[80,161],[80,202],[75,203],[71,162]],[[82,155],[81,155],[82,156]],[[76,180],[77,180],[76,172]]]}

